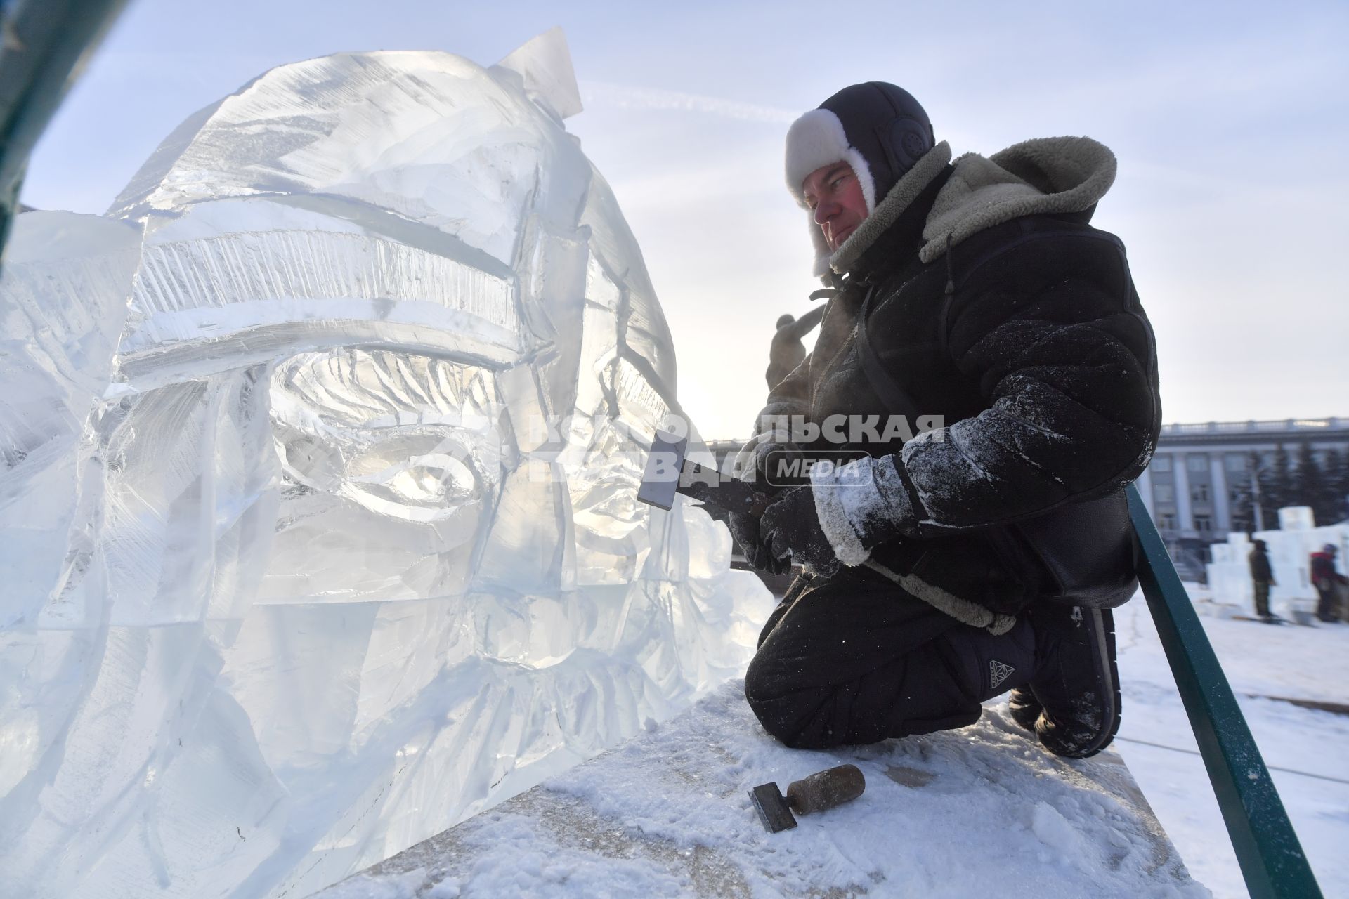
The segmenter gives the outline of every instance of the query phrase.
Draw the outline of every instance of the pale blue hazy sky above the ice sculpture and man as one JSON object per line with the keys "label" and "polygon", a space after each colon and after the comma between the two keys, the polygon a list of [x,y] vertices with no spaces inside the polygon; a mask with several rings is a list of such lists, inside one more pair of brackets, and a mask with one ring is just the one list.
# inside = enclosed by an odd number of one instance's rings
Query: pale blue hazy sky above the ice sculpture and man
{"label": "pale blue hazy sky above the ice sculpture and man", "polygon": [[[654,5],[654,4],[652,4]],[[893,81],[956,155],[1090,135],[1095,224],[1129,247],[1167,421],[1349,415],[1349,4],[560,4],[132,0],[34,155],[23,199],[103,212],[183,117],[341,50],[490,65],[561,26],[708,437],[743,435],[772,322],[808,309],[792,117]]]}

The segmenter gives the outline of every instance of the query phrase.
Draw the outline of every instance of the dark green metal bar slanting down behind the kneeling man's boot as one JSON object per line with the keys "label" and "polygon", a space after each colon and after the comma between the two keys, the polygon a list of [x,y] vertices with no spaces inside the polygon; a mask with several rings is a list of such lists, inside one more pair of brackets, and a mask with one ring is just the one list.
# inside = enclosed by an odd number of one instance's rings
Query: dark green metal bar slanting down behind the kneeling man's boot
{"label": "dark green metal bar slanting down behind the kneeling man's boot", "polygon": [[1167,547],[1136,487],[1129,515],[1139,535],[1139,581],[1184,701],[1241,876],[1255,899],[1319,899],[1321,887],[1237,708]]}

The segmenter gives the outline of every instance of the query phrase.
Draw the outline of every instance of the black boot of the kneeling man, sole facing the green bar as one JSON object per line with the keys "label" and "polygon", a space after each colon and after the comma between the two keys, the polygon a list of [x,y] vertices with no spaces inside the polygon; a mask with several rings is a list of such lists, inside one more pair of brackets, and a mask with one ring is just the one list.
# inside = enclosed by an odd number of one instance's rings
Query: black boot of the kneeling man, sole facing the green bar
{"label": "black boot of the kneeling man, sole facing the green bar", "polygon": [[1110,609],[1033,605],[1035,674],[1014,690],[1012,718],[1070,759],[1093,756],[1120,731],[1120,671]]}

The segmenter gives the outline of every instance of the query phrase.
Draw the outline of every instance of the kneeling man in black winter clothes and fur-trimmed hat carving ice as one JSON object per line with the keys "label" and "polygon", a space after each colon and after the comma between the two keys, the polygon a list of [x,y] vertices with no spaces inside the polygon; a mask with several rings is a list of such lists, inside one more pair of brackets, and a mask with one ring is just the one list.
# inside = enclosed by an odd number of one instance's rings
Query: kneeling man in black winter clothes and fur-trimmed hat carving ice
{"label": "kneeling man in black winter clothes and fur-trimmed hat carving ice", "polygon": [[[1094,755],[1118,729],[1109,609],[1045,586],[1099,549],[1097,532],[1128,539],[1126,516],[1121,530],[1118,515],[1083,523],[1072,509],[1122,508],[1160,427],[1124,248],[1087,224],[1114,167],[1087,137],[952,164],[917,101],[882,82],[846,88],[789,129],[786,182],[812,213],[815,274],[835,290],[739,464],[772,484],[780,460],[828,449],[855,461],[817,465],[762,519],[731,519],[757,567],[805,571],[745,681],[784,743],[959,728],[1008,690],[1012,716],[1059,755]],[[885,427],[896,416],[946,426],[904,439],[911,429]],[[859,419],[871,439],[849,427]],[[819,435],[792,442],[791,422]],[[830,442],[839,435],[853,442]],[[1009,535],[1031,551],[1008,551]],[[1132,582],[1128,546],[1122,566]]]}

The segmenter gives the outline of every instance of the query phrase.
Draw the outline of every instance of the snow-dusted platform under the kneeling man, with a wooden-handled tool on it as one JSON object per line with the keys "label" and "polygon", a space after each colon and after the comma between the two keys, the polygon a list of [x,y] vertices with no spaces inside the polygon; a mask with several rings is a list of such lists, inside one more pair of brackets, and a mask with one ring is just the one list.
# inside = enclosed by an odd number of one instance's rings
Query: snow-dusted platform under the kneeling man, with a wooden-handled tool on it
{"label": "snow-dusted platform under the kneeling man, with a wooden-handled tool on it", "polygon": [[[741,690],[317,896],[1210,895],[1118,755],[1051,756],[1005,704],[962,731],[808,752],[765,735]],[[844,762],[859,799],[764,830],[747,790]]]}

